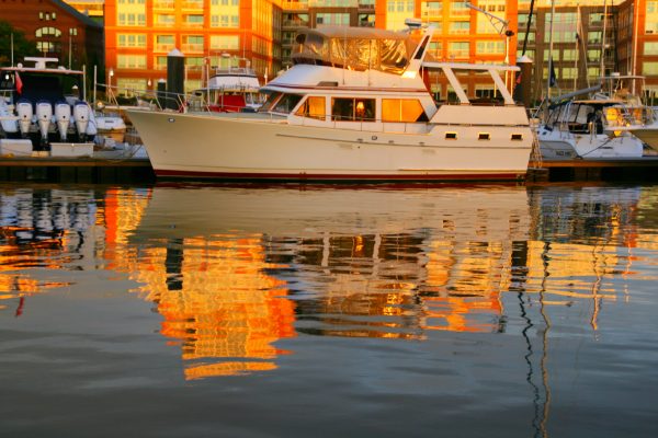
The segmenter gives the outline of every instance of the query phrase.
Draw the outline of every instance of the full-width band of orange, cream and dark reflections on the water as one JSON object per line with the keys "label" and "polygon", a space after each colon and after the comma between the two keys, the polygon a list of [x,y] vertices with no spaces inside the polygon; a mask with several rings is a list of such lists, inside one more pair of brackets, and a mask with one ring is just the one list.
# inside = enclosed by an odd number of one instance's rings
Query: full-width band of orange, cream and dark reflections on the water
{"label": "full-width band of orange, cream and dark reflections on the water", "polygon": [[297,334],[506,333],[521,314],[527,380],[547,399],[548,309],[595,332],[631,279],[655,279],[634,267],[655,264],[647,203],[638,187],[4,188],[0,309],[75,281],[44,270],[124,273],[186,379],[274,370]]}

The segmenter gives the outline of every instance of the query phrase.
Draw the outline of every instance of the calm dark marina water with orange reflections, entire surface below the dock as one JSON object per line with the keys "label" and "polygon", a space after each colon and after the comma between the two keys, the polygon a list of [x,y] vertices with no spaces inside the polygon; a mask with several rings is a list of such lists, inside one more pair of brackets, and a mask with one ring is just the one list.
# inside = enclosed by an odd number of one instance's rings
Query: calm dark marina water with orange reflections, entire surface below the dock
{"label": "calm dark marina water with orange reflections, entire surface below the dock", "polygon": [[658,433],[658,186],[0,186],[0,436]]}

